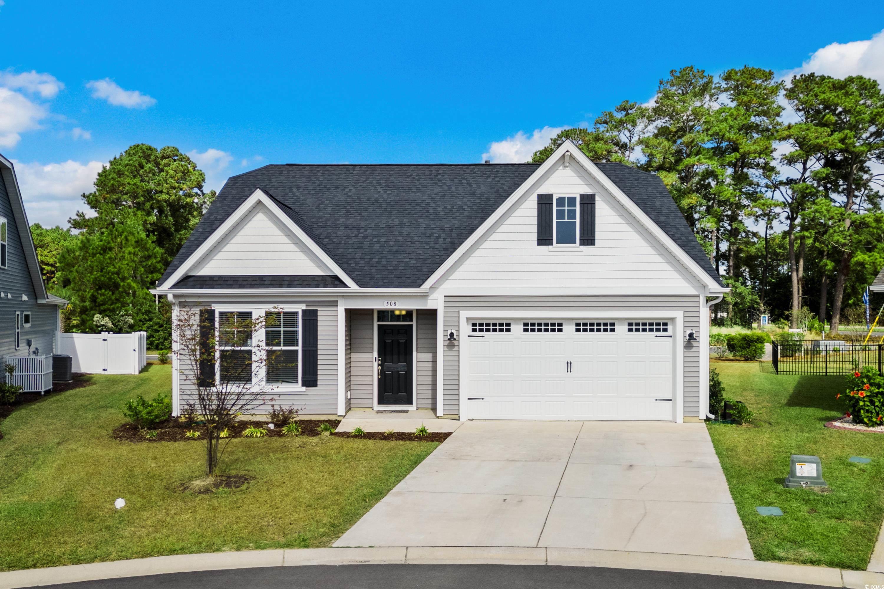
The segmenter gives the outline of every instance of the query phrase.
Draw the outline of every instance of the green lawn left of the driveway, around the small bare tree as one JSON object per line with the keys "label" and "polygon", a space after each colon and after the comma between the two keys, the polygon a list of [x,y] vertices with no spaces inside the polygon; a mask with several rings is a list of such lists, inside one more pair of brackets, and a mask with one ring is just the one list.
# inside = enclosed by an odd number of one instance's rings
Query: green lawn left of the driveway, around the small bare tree
{"label": "green lawn left of the driveway, around the small bare tree", "polygon": [[[117,442],[119,406],[171,390],[171,367],[95,376],[0,421],[0,570],[142,556],[327,547],[438,446],[337,437],[237,439],[222,468],[252,480],[210,495],[202,442]],[[113,502],[126,499],[115,510]]]}

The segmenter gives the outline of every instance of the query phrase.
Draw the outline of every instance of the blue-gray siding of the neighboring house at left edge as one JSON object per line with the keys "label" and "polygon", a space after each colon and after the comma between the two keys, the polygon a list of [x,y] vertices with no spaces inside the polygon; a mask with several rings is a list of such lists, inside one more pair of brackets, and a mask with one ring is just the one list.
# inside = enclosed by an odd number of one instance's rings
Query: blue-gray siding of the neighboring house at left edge
{"label": "blue-gray siding of the neighboring house at left edge", "polygon": [[[58,307],[39,305],[30,272],[27,268],[24,245],[19,238],[19,226],[12,215],[10,195],[6,192],[4,177],[0,175],[0,216],[6,219],[6,268],[0,268],[0,358],[27,356],[27,340],[31,353],[39,350],[41,356],[52,354],[58,328]],[[5,296],[11,295],[11,298]],[[27,300],[22,300],[25,295]],[[15,313],[31,313],[31,327],[21,329],[21,347],[15,349]]]}

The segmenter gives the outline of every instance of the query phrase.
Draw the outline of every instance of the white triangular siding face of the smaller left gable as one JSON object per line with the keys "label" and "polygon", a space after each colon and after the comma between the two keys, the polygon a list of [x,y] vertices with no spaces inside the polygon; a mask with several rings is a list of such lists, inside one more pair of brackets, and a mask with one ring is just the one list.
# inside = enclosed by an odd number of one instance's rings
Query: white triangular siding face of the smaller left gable
{"label": "white triangular siding face of the smaller left gable", "polygon": [[188,274],[330,276],[334,272],[259,201]]}

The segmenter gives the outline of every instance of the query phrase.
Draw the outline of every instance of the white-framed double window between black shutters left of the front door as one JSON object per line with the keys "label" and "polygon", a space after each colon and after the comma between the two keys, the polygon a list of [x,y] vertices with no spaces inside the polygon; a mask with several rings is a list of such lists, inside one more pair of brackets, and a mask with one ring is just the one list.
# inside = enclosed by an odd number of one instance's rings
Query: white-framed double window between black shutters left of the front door
{"label": "white-framed double window between black shutters left of the front door", "polygon": [[215,306],[217,379],[301,390],[303,306]]}

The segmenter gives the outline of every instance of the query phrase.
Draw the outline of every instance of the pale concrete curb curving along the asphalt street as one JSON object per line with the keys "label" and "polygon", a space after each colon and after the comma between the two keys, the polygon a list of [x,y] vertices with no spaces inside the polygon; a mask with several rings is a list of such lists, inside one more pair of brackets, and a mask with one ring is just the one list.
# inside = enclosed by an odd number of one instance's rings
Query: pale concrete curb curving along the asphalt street
{"label": "pale concrete curb curving along the asphalt street", "polygon": [[884,586],[884,574],[798,564],[765,563],[714,556],[618,552],[554,547],[376,547],[295,548],[174,555],[113,563],[0,572],[0,589],[60,585],[106,578],[141,577],[198,570],[317,564],[534,564],[665,570],[725,577],[766,579],[807,585],[867,589]]}

